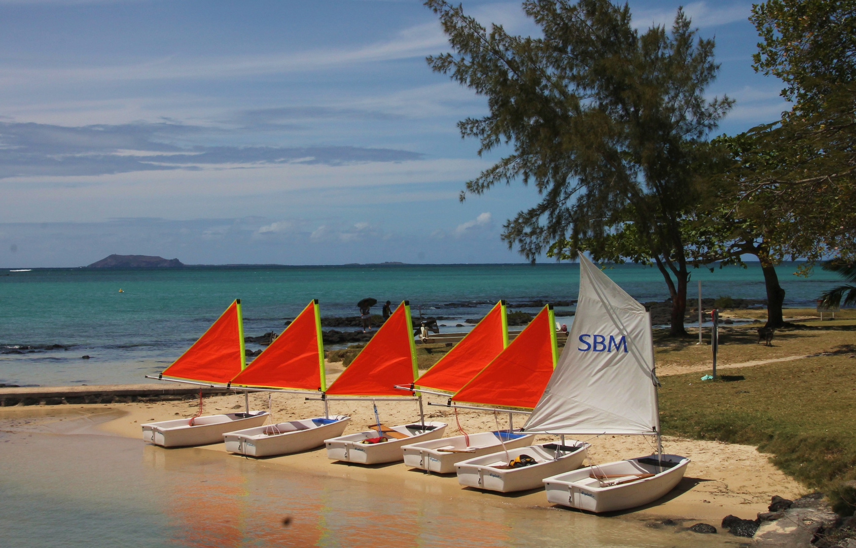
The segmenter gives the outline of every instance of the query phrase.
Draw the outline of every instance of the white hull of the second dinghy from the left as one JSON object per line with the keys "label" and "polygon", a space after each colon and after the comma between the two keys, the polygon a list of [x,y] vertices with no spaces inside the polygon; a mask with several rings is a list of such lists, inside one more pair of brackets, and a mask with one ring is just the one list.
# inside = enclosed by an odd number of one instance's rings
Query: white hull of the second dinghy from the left
{"label": "white hull of the second dinghy from the left", "polygon": [[324,417],[290,420],[276,425],[256,426],[223,434],[226,450],[247,456],[288,455],[324,445],[324,439],[341,436],[351,421],[348,415],[336,415],[333,422]]}

